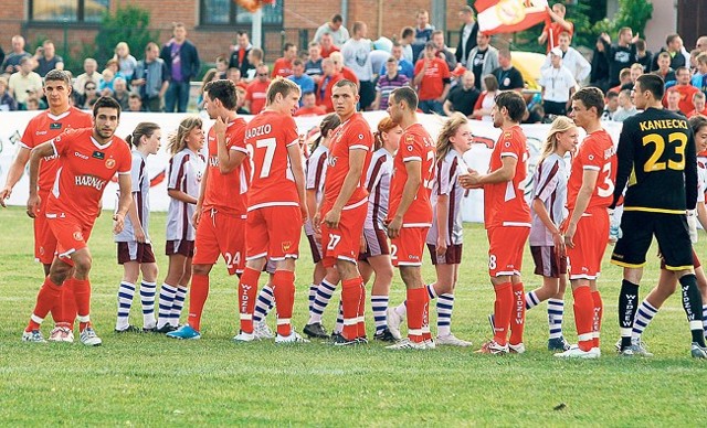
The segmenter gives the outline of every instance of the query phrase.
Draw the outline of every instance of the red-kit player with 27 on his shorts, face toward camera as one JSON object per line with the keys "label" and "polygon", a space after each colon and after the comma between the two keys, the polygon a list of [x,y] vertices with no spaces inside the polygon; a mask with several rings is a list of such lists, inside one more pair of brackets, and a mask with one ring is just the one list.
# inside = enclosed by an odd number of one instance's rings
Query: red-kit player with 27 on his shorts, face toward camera
{"label": "red-kit player with 27 on his shorts, face toward camera", "polygon": [[368,213],[365,180],[373,151],[373,135],[363,116],[356,111],[358,98],[358,87],[351,81],[339,81],[331,89],[334,110],[341,125],[331,139],[324,203],[315,217],[315,225],[321,218],[324,266],[336,265],[341,278],[344,330],[333,338],[335,345],[367,343],[366,288],[357,260]]}

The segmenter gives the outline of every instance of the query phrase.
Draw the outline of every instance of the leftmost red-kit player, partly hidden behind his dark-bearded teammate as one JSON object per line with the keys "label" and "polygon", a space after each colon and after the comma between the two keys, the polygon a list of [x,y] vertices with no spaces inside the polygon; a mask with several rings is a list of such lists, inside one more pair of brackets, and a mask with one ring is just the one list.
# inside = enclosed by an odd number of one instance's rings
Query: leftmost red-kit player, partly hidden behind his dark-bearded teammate
{"label": "leftmost red-kit player, partly hidden behind his dark-bearded teammate", "polygon": [[[24,167],[30,160],[30,151],[44,141],[64,132],[66,129],[89,128],[93,126],[91,115],[72,107],[68,103],[72,86],[71,77],[66,72],[52,69],[44,77],[44,95],[49,103],[49,110],[42,111],[30,120],[20,140],[20,149],[14,162],[8,171],[4,189],[0,190],[0,205],[4,206],[4,200],[10,197],[12,188],[22,178]],[[44,266],[44,276],[54,259],[56,238],[49,228],[46,216],[46,201],[49,192],[54,184],[57,169],[57,158],[48,157],[40,162],[39,196],[40,205],[34,213],[34,258]],[[29,214],[29,213],[28,213]],[[73,287],[68,279],[62,287],[62,297],[51,309],[56,327],[52,330],[49,340],[54,342],[73,342],[73,324],[76,318]]]}

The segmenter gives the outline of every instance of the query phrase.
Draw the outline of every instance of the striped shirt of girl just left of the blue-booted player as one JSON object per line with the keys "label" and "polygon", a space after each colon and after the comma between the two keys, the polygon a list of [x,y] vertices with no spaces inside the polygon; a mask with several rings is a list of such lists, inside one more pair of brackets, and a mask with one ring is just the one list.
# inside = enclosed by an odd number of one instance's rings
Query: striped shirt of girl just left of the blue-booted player
{"label": "striped shirt of girl just left of the blue-booted player", "polygon": [[[202,154],[184,148],[169,160],[167,189],[180,190],[199,197],[201,179],[207,162]],[[169,201],[167,211],[167,240],[193,240],[196,231],[192,223],[196,205],[175,199]]]}

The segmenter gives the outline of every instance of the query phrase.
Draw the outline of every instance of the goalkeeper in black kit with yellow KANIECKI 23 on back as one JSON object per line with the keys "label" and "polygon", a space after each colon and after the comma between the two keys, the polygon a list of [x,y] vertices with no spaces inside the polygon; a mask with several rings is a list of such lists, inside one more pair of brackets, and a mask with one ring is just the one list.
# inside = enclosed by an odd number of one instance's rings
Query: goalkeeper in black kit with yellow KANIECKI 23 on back
{"label": "goalkeeper in black kit with yellow KANIECKI 23 on back", "polygon": [[[634,330],[637,327],[642,332],[658,309],[647,301],[637,307],[639,282],[655,236],[665,268],[679,278],[683,307],[693,335],[692,355],[705,359],[701,297],[693,270],[686,216],[687,210],[695,210],[697,202],[695,140],[684,117],[663,109],[663,94],[664,82],[659,76],[639,77],[633,97],[636,108],[644,111],[623,122],[616,150],[614,204],[629,184],[621,218],[622,236],[611,256],[614,265],[624,268],[619,295],[621,352],[651,355]],[[672,290],[667,290],[669,292]]]}

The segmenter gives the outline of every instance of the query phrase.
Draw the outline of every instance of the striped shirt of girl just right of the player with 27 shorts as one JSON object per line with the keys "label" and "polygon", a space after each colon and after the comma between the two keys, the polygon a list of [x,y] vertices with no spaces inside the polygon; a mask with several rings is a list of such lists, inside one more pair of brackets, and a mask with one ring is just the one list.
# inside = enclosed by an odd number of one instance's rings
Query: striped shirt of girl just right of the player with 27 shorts
{"label": "striped shirt of girl just right of the player with 27 shorts", "polygon": [[380,148],[371,156],[371,163],[366,172],[366,189],[368,190],[368,213],[363,228],[382,229],[388,216],[388,196],[390,193],[390,176],[393,172],[393,157],[384,148]]}

